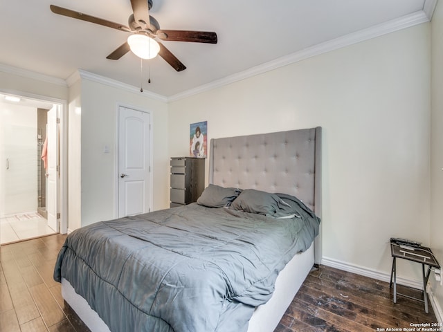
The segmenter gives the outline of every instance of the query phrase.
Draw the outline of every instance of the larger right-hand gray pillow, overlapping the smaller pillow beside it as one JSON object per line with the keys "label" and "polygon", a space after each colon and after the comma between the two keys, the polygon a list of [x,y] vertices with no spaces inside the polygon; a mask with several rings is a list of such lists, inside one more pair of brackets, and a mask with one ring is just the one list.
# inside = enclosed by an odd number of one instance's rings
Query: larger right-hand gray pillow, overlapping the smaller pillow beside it
{"label": "larger right-hand gray pillow, overlapping the smaller pillow beside it", "polygon": [[280,197],[261,190],[245,189],[230,205],[230,209],[274,216],[280,211]]}

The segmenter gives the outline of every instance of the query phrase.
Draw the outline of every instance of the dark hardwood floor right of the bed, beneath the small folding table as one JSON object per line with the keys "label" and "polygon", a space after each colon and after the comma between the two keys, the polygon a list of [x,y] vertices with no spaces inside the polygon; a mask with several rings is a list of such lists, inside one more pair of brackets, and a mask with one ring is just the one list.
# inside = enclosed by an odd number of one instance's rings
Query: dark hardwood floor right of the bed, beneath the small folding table
{"label": "dark hardwood floor right of the bed, beneath the small folding table", "polygon": [[[421,291],[399,284],[397,292],[422,297]],[[275,332],[404,331],[411,323],[426,322],[437,322],[431,304],[428,314],[423,302],[398,294],[394,304],[388,282],[320,266],[309,273]]]}

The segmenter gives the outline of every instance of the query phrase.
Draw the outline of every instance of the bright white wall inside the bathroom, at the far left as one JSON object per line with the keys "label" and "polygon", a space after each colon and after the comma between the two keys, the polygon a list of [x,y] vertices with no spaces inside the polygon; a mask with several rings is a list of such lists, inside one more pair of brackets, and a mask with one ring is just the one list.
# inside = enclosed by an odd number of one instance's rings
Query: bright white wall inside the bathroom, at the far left
{"label": "bright white wall inside the bathroom, at the far left", "polygon": [[37,108],[0,102],[0,135],[0,216],[35,211]]}

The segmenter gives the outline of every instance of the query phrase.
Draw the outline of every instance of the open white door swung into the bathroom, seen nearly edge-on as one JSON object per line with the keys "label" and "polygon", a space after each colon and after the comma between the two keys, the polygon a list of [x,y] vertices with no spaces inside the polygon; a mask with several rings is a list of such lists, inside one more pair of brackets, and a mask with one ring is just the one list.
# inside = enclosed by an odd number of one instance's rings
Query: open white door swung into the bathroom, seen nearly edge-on
{"label": "open white door swung into the bathroom, seen nearly edge-on", "polygon": [[46,212],[48,212],[48,226],[59,232],[57,223],[57,192],[58,192],[58,124],[57,106],[48,111],[46,137],[48,139],[47,168],[46,168]]}

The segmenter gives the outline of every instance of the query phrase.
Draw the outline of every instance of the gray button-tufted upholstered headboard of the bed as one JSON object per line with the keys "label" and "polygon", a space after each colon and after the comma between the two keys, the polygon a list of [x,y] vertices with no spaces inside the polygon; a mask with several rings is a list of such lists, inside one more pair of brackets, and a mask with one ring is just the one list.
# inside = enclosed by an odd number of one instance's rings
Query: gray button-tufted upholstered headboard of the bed
{"label": "gray button-tufted upholstered headboard of the bed", "polygon": [[321,218],[321,127],[212,139],[209,183],[291,194]]}

